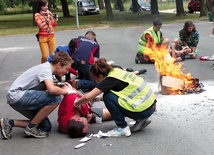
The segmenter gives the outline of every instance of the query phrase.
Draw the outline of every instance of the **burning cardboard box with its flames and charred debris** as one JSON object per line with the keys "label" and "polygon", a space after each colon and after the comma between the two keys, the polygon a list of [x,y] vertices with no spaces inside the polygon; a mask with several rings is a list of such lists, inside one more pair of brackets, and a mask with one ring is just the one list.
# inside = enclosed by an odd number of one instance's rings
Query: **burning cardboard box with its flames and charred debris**
{"label": "burning cardboard box with its flames and charred debris", "polygon": [[160,75],[161,93],[187,94],[200,93],[204,85],[194,78],[190,73],[184,73],[182,63],[175,63],[175,59],[169,56],[166,47],[146,48],[145,54],[155,61],[154,65]]}

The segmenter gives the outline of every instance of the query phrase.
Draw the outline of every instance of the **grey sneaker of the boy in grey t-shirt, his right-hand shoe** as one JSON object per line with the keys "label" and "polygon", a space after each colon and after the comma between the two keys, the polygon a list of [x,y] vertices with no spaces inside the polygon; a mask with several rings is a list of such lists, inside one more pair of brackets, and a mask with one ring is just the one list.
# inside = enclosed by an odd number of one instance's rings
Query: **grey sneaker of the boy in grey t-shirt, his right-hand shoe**
{"label": "grey sneaker of the boy in grey t-shirt, his right-hand shoe", "polygon": [[24,129],[24,132],[28,136],[33,136],[35,138],[46,138],[46,137],[48,137],[48,132],[42,131],[41,129],[37,128],[37,126],[35,126],[33,128],[29,128],[29,126],[27,126]]}

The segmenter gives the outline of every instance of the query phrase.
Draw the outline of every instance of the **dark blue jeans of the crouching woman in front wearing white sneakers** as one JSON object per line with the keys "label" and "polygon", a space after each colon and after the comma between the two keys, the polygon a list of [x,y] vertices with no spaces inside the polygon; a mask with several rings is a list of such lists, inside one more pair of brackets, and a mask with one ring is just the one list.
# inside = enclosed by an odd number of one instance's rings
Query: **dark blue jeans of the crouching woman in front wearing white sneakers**
{"label": "dark blue jeans of the crouching woman in front wearing white sneakers", "polygon": [[119,105],[118,96],[112,92],[105,93],[103,95],[103,100],[113,120],[115,121],[117,126],[121,128],[125,128],[127,126],[125,117],[129,117],[134,120],[146,119],[150,117],[155,111],[155,109],[146,109],[142,112],[131,112],[129,110],[126,110]]}

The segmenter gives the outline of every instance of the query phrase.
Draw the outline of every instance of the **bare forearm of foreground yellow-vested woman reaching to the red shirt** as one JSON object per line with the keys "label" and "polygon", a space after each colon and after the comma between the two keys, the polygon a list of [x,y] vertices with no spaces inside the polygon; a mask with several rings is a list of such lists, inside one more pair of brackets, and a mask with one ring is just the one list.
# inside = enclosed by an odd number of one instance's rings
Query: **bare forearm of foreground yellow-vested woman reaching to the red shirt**
{"label": "bare forearm of foreground yellow-vested woman reaching to the red shirt", "polygon": [[81,104],[93,100],[96,96],[102,94],[103,92],[97,88],[94,88],[86,95],[83,95],[79,100],[75,101],[74,106],[79,107]]}

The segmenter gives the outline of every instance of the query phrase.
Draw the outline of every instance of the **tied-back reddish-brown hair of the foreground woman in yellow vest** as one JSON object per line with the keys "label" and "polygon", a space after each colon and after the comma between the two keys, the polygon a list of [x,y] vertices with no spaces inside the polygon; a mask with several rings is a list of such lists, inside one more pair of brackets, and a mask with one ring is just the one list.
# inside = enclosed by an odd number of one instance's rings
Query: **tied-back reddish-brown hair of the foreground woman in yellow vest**
{"label": "tied-back reddish-brown hair of the foreground woman in yellow vest", "polygon": [[98,77],[100,74],[106,77],[112,69],[113,67],[106,62],[105,58],[100,58],[91,66],[90,74],[95,77]]}

